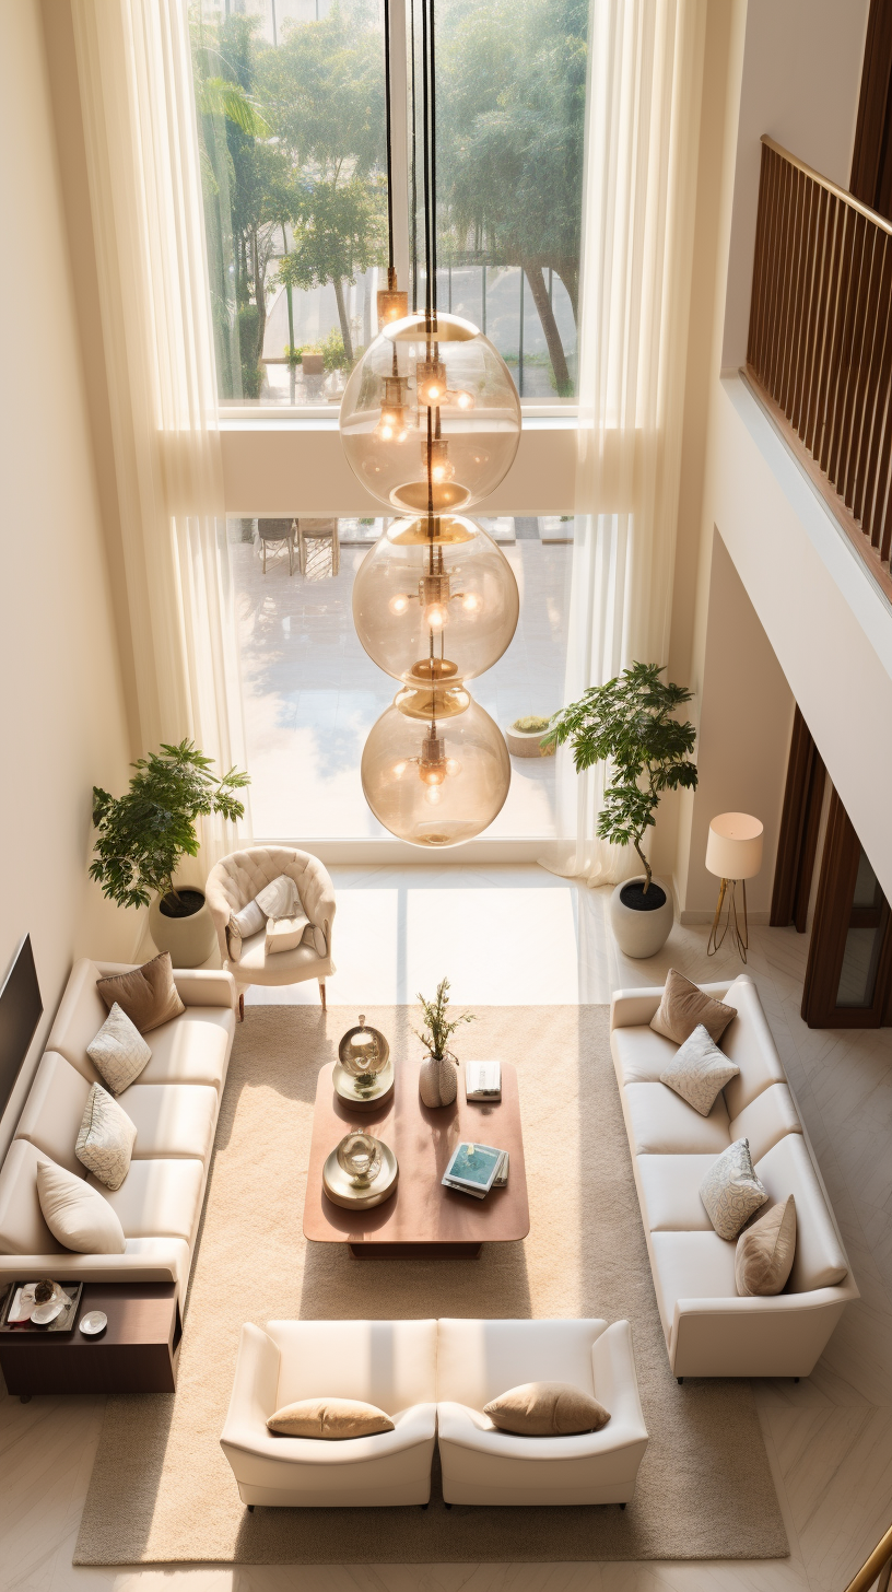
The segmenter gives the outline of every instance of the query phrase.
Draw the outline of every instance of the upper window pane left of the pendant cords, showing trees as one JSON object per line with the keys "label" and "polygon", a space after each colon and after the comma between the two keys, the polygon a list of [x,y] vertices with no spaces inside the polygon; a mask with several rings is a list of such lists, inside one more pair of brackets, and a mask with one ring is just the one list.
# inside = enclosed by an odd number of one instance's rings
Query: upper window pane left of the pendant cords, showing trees
{"label": "upper window pane left of the pendant cords, showing trees", "polygon": [[381,0],[199,0],[193,10],[223,404],[338,404],[378,330],[381,29]]}

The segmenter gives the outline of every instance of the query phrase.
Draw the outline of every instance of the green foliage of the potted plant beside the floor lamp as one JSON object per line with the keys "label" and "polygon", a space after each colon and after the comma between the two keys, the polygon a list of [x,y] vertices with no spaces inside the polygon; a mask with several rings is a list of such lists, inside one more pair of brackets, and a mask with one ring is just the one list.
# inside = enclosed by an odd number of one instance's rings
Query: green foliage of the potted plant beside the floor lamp
{"label": "green foliage of the potted plant beside the floor lamp", "polygon": [[597,833],[615,845],[634,845],[647,895],[651,869],[640,842],[656,821],[663,791],[696,790],[698,769],[690,753],[696,731],[674,715],[691,700],[685,686],[661,680],[664,665],[632,664],[616,680],[589,686],[578,702],[556,715],[545,743],[570,742],[577,772],[612,763],[597,815]]}

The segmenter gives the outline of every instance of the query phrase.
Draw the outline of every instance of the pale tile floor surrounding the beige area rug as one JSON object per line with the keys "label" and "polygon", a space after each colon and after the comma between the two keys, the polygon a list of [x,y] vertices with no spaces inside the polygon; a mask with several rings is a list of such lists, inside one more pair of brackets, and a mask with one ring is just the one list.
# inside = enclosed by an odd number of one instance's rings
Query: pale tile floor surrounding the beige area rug
{"label": "pale tile floor surrounding the beige area rug", "polygon": [[[330,1000],[408,1001],[444,973],[467,1005],[605,1001],[623,985],[733,977],[706,928],[647,965],[618,955],[608,890],[535,866],[334,868]],[[862,1299],[812,1377],[757,1383],[792,1557],[773,1563],[350,1565],[73,1570],[102,1401],[0,1403],[0,1587],[27,1592],[843,1592],[892,1520],[892,1030],[811,1032],[804,939],[757,928],[749,971],[817,1151]],[[255,992],[256,997],[261,992]],[[315,1000],[315,985],[285,998]],[[282,998],[282,992],[279,992]]]}

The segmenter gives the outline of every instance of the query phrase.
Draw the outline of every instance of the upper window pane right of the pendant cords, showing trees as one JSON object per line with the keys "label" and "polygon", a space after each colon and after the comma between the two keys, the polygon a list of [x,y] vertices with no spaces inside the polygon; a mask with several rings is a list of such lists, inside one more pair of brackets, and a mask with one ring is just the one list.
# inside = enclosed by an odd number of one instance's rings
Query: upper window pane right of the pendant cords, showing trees
{"label": "upper window pane right of the pendant cords, showing trees", "polygon": [[[577,393],[588,11],[436,5],[438,302],[486,330],[534,401]],[[422,237],[419,221],[419,253]]]}

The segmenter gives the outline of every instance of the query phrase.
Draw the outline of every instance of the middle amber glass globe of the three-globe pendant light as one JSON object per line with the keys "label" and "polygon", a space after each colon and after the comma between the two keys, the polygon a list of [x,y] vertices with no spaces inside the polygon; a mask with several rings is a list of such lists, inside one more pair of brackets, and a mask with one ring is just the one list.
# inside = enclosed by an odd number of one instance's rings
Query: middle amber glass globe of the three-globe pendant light
{"label": "middle amber glass globe of the three-globe pendant light", "polygon": [[395,680],[419,685],[492,669],[518,611],[508,559],[483,525],[459,514],[395,521],[354,581],[354,624],[368,656]]}

